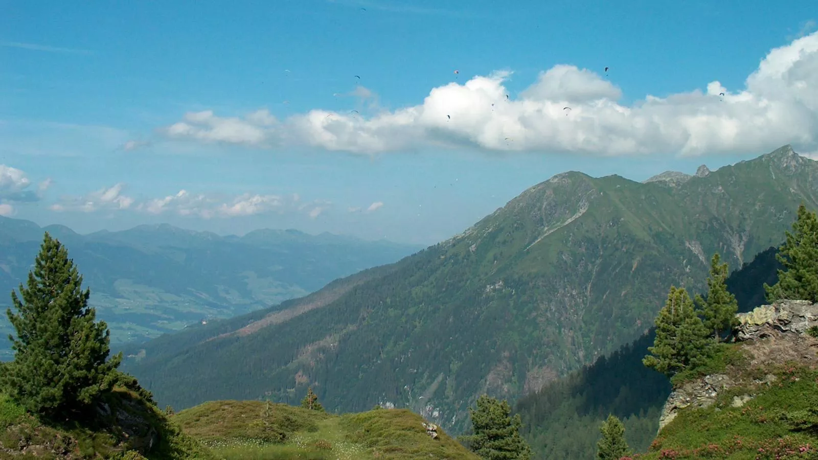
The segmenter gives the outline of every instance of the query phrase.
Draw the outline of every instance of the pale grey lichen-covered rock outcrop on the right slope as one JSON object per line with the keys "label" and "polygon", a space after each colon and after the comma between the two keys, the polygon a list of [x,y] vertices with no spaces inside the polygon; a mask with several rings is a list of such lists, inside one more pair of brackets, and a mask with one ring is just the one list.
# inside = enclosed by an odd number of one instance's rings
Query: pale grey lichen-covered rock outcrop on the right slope
{"label": "pale grey lichen-covered rock outcrop on the right slope", "polygon": [[[749,368],[764,368],[769,364],[787,362],[818,364],[818,339],[807,334],[818,326],[818,304],[807,300],[786,300],[762,305],[748,313],[739,313],[739,326],[735,327],[734,340],[741,342],[749,362]],[[739,376],[730,369],[685,382],[673,390],[664,405],[659,419],[659,431],[670,423],[682,408],[706,408],[716,401],[720,392],[738,383]],[[761,389],[769,386],[776,377],[766,374],[753,379],[753,386]],[[746,383],[746,382],[745,382]],[[733,406],[740,407],[753,394],[733,398]]]}

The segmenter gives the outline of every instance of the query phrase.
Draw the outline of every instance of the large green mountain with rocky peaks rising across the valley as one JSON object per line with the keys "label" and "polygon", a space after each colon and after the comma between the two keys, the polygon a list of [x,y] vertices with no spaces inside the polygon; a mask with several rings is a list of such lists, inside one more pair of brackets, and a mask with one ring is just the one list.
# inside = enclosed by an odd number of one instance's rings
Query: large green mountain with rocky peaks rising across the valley
{"label": "large green mountain with rocky peaks rising across the valley", "polygon": [[789,146],[676,186],[557,174],[371,280],[134,347],[125,368],[177,408],[312,385],[330,410],[407,407],[458,431],[479,394],[517,399],[636,340],[671,284],[701,291],[713,252],[741,266],[816,196],[818,162]]}

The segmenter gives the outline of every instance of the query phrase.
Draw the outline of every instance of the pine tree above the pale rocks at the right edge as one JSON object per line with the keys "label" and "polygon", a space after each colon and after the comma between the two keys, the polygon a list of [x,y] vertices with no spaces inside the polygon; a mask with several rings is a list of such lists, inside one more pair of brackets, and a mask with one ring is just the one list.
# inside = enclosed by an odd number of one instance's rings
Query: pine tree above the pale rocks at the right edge
{"label": "pine tree above the pale rocks at the right edge", "polygon": [[778,271],[774,286],[764,284],[768,302],[775,300],[810,300],[818,302],[818,217],[798,206],[798,218],[793,232],[786,232],[786,241],[775,259],[784,265]]}

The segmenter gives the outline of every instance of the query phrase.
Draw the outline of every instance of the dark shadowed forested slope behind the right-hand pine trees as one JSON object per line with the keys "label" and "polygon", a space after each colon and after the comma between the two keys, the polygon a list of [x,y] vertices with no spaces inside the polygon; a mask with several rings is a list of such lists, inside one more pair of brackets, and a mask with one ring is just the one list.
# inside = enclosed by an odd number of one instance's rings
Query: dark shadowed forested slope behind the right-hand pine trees
{"label": "dark shadowed forested slope behind the right-hand pine trees", "polygon": [[[778,282],[778,270],[783,268],[775,259],[777,252],[777,247],[764,250],[730,273],[727,290],[735,295],[739,312],[765,303],[764,284]],[[671,393],[667,377],[642,364],[654,337],[651,328],[613,354],[517,401],[515,413],[523,418],[524,436],[537,458],[594,458],[599,426],[611,413],[624,423],[632,449],[648,449]]]}

